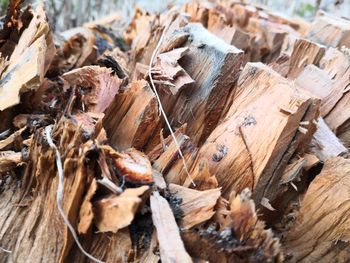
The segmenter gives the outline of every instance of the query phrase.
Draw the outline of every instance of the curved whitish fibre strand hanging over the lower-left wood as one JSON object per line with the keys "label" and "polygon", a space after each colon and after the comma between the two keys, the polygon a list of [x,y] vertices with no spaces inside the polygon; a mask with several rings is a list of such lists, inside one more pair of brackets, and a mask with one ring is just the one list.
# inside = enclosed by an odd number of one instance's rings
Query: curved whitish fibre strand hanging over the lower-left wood
{"label": "curved whitish fibre strand hanging over the lower-left wood", "polygon": [[56,165],[57,165],[57,171],[58,171],[58,186],[57,186],[57,195],[56,195],[56,201],[57,201],[57,208],[58,211],[60,212],[64,223],[67,225],[69,228],[75,242],[77,243],[79,249],[85,256],[87,256],[89,259],[97,262],[97,263],[104,263],[103,261],[93,257],[90,255],[88,252],[85,251],[83,246],[81,245],[78,235],[75,232],[75,229],[71,225],[71,223],[68,220],[68,217],[64,214],[63,206],[62,206],[62,199],[63,199],[63,166],[62,166],[62,159],[61,159],[61,154],[59,150],[57,149],[56,145],[53,143],[52,138],[51,138],[51,131],[52,131],[52,125],[46,126],[45,128],[45,133],[46,133],[46,140],[49,144],[49,146],[55,151],[56,153]]}

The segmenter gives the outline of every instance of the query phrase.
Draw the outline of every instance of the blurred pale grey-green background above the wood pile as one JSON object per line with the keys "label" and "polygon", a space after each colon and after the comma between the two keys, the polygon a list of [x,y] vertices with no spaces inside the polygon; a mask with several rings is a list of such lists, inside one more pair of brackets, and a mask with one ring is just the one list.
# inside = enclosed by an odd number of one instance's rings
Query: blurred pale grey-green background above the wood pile
{"label": "blurred pale grey-green background above the wood pile", "polygon": [[[55,31],[82,25],[111,13],[121,13],[131,18],[136,5],[149,12],[161,12],[172,5],[189,0],[43,0],[50,23]],[[228,1],[228,0],[218,0]],[[0,0],[0,15],[6,13],[9,0]],[[25,0],[37,3],[40,0]],[[334,15],[350,19],[350,0],[242,0],[237,2],[268,6],[286,16],[300,16],[310,20],[322,9]]]}

